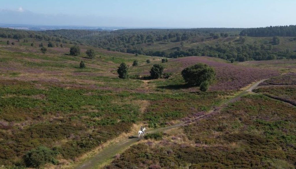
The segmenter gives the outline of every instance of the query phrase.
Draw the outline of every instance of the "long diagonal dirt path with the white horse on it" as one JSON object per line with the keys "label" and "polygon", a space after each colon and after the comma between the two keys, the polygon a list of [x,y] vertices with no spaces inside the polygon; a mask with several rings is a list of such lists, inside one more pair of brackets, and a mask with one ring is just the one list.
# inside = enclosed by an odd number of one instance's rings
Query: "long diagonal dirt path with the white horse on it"
{"label": "long diagonal dirt path with the white horse on it", "polygon": [[[263,81],[266,81],[266,80],[267,79],[264,79],[264,80],[261,80],[261,81],[258,81],[256,83],[252,84],[246,90],[242,91],[238,95],[234,96],[233,98],[231,98],[228,101],[221,104],[221,106],[229,104],[231,102],[235,102],[236,100],[238,100],[243,95],[252,92],[252,90],[254,88],[256,88],[259,85],[259,83],[261,83]],[[214,110],[210,110],[205,115],[208,115],[208,114],[210,114],[212,112],[214,112]],[[204,117],[205,115],[196,117],[196,118],[192,119],[191,121],[200,119],[200,118]],[[150,129],[150,130],[148,129],[147,133],[156,133],[156,132],[160,132],[160,131],[167,131],[169,129],[180,127],[182,125],[186,125],[186,123],[182,122],[182,123],[178,123],[178,124],[171,125],[171,126],[164,127],[164,128],[157,128],[157,129]],[[134,135],[134,136],[130,136],[129,138],[126,138],[126,139],[120,141],[119,143],[112,144],[112,145],[110,145],[108,147],[105,147],[102,151],[100,151],[99,153],[97,153],[93,157],[91,157],[88,160],[82,162],[82,164],[80,164],[78,167],[76,167],[76,169],[93,169],[93,168],[97,169],[97,168],[102,168],[103,165],[107,165],[108,162],[111,162],[113,157],[116,154],[122,153],[124,150],[128,149],[131,145],[136,144],[137,141],[139,141],[139,140],[140,139],[138,138],[138,136]]]}

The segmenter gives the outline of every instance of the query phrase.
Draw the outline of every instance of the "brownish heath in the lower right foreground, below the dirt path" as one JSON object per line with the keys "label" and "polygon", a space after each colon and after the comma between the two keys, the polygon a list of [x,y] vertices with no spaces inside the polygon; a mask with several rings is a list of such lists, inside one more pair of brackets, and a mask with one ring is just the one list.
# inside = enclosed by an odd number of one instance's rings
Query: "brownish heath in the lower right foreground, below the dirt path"
{"label": "brownish heath in the lower right foreground, below the dirt path", "polygon": [[247,95],[221,112],[160,134],[105,168],[295,168],[295,107]]}

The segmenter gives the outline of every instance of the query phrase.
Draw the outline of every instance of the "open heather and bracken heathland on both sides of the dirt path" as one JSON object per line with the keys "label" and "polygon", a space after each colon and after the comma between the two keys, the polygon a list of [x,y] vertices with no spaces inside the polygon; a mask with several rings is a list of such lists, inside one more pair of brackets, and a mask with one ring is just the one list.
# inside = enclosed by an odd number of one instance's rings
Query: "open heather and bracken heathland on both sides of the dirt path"
{"label": "open heather and bracken heathland on both sides of the dirt path", "polygon": [[[28,45],[32,42],[34,46]],[[69,47],[73,44],[48,48],[46,54],[42,54],[40,47],[37,47],[41,42],[47,45],[46,41],[28,38],[28,42],[0,46],[2,168],[24,167],[24,154],[39,146],[58,152],[57,166],[46,164],[45,168],[73,168],[86,158],[91,158],[90,152],[98,147],[115,139],[120,141],[120,136],[133,135],[131,132],[137,131],[140,125],[150,129],[162,128],[203,115],[262,79],[270,78],[266,81],[268,84],[269,81],[283,81],[281,79],[289,84],[295,81],[294,74],[280,76],[282,69],[289,72],[294,70],[289,68],[295,65],[293,60],[281,60],[283,63],[280,67],[269,66],[277,61],[258,66],[259,62],[232,64],[213,57],[183,57],[161,63],[160,57],[135,56],[98,48],[94,48],[96,58],[89,59],[85,54],[87,49],[91,49],[89,46],[79,45],[79,56],[69,55]],[[147,59],[151,62],[147,63]],[[134,60],[139,62],[139,66],[131,66]],[[85,62],[86,68],[79,68],[80,61]],[[130,66],[130,75],[142,78],[119,79],[116,69],[121,62]],[[198,62],[216,71],[217,79],[207,92],[186,86],[180,74],[185,67]],[[171,73],[169,78],[144,78],[156,63],[165,66],[164,72]],[[289,90],[285,95],[279,95],[281,91],[262,93],[277,92],[276,96],[293,99]],[[263,113],[259,114],[257,110]],[[248,168],[250,166],[246,159],[223,163],[227,161],[225,158],[240,159],[243,158],[242,154],[247,153],[252,159],[251,164],[258,168],[274,165],[291,168],[295,165],[292,163],[295,160],[293,112],[294,107],[282,102],[263,95],[248,95],[229,107],[223,107],[221,113],[163,133],[158,141],[140,141],[140,144],[118,155],[107,168],[157,168],[157,165],[170,168],[190,165],[192,168],[207,165],[208,168],[214,168],[211,165],[218,168]],[[241,116],[243,120],[237,120]],[[272,128],[268,128],[270,126]],[[240,135],[238,131],[241,131]],[[252,132],[257,135],[253,136]],[[265,132],[271,134],[266,135]],[[268,145],[261,145],[261,142],[253,145],[248,140],[257,137],[259,141],[267,141]],[[246,141],[238,141],[238,138]],[[252,148],[258,150],[259,154],[252,152]],[[216,153],[215,159],[209,155]],[[268,156],[263,159],[266,153]],[[279,157],[283,154],[284,157]],[[141,164],[134,159],[140,159]],[[196,163],[194,159],[200,162]],[[210,164],[210,161],[214,163]]]}

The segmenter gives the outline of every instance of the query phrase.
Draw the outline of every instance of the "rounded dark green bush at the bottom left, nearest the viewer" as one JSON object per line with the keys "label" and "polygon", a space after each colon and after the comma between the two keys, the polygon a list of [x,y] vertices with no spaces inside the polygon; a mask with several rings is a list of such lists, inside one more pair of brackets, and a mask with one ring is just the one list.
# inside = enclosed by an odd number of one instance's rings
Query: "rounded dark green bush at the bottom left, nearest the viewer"
{"label": "rounded dark green bush at the bottom left, nearest the viewer", "polygon": [[24,161],[27,167],[41,167],[46,163],[56,165],[58,161],[55,159],[58,152],[55,152],[47,147],[40,146],[36,149],[31,149],[24,155]]}

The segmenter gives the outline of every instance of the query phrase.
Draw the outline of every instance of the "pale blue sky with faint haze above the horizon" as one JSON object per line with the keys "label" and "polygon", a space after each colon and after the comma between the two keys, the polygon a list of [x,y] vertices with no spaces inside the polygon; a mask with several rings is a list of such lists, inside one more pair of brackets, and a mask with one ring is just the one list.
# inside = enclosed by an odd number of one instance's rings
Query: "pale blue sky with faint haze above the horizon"
{"label": "pale blue sky with faint haze above the horizon", "polygon": [[0,0],[0,23],[129,28],[296,25],[296,0]]}

